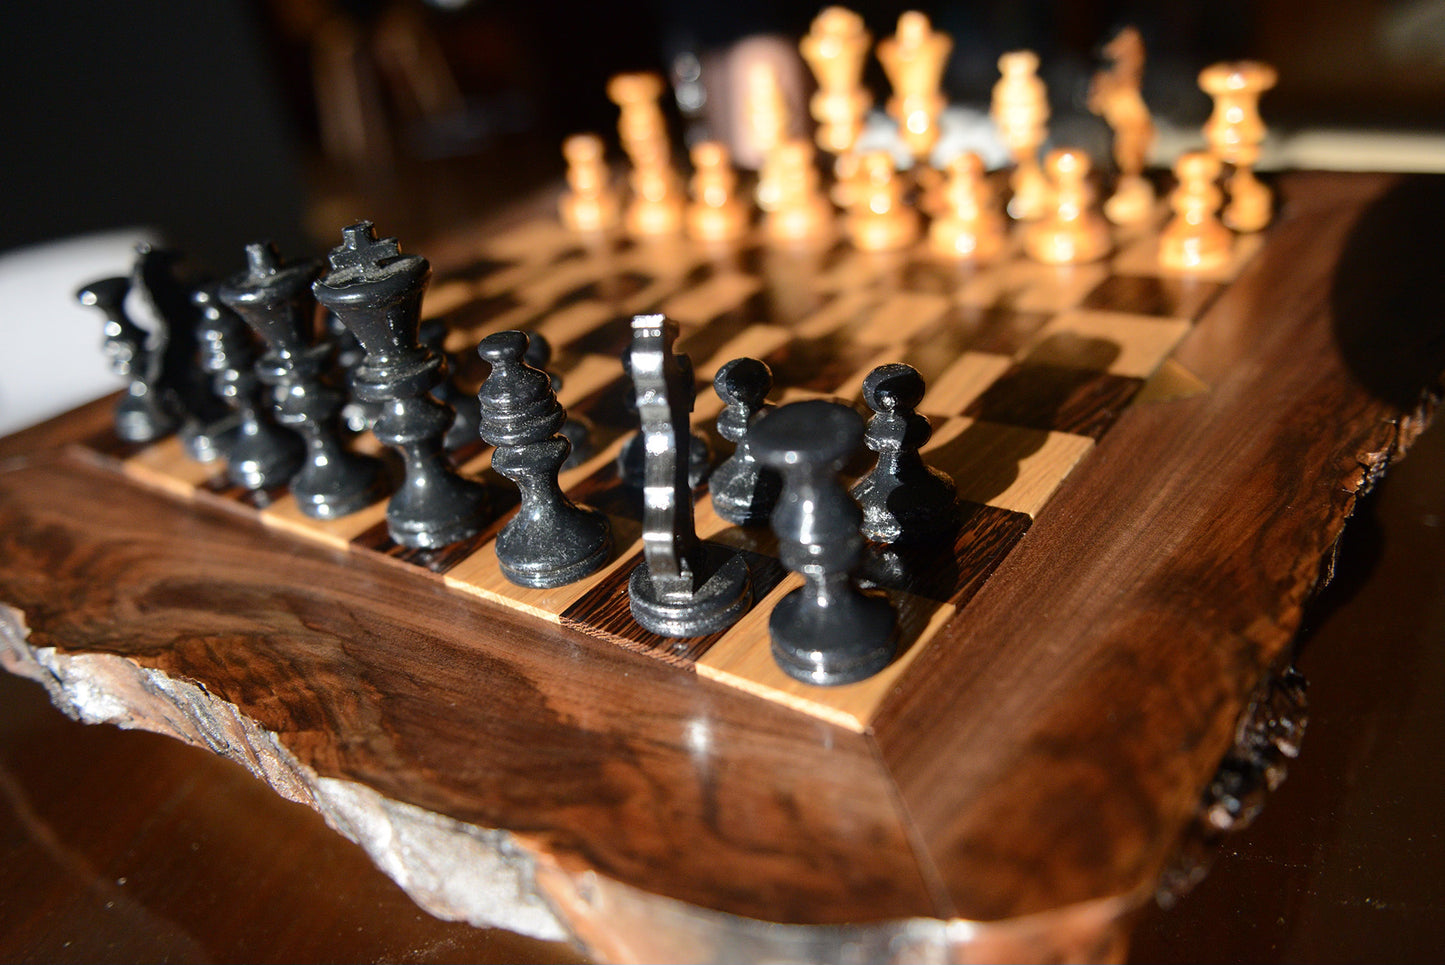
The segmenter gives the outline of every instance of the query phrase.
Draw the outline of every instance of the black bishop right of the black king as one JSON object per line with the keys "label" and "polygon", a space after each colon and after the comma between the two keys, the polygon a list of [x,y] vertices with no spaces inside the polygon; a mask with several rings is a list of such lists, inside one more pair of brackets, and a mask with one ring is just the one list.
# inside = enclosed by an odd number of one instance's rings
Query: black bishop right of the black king
{"label": "black bishop right of the black king", "polygon": [[562,587],[611,556],[611,526],[603,513],[577,506],[556,474],[571,443],[559,435],[566,410],[546,373],[525,361],[525,332],[496,332],[477,352],[491,374],[477,393],[481,438],[497,446],[491,468],[517,484],[522,506],[497,533],[501,574],[522,587]]}

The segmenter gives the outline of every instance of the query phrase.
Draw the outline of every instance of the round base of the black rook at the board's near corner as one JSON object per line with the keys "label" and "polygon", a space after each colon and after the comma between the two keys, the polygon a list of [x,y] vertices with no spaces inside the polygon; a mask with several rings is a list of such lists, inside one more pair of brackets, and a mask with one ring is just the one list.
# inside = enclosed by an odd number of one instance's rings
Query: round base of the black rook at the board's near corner
{"label": "round base of the black rook at the board's near corner", "polygon": [[834,595],[821,607],[808,587],[799,587],[773,607],[767,630],[779,669],[819,686],[864,680],[897,649],[897,614],[876,594]]}

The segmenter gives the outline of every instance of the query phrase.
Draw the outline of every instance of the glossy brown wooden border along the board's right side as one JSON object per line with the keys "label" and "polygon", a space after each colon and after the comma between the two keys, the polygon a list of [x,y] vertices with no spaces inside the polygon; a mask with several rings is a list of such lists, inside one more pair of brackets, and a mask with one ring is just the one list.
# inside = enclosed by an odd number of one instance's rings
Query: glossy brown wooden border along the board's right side
{"label": "glossy brown wooden border along the board's right side", "polygon": [[1351,374],[1332,315],[1338,285],[1386,283],[1338,274],[1386,189],[1289,182],[1269,246],[1175,355],[1209,391],[1129,410],[877,722],[961,913],[1152,890],[1357,491],[1413,430]]}

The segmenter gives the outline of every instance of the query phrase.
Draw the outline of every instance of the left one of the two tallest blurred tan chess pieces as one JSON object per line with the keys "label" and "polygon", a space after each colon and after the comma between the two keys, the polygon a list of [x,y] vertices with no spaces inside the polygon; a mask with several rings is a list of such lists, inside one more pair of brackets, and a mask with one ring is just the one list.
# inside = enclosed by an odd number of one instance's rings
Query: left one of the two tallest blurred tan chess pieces
{"label": "left one of the two tallest blurred tan chess pieces", "polygon": [[808,103],[818,121],[815,137],[829,153],[853,150],[863,133],[863,118],[873,107],[873,95],[863,87],[863,65],[871,45],[873,35],[864,29],[863,17],[842,7],[825,7],[798,45],[818,81],[818,92]]}

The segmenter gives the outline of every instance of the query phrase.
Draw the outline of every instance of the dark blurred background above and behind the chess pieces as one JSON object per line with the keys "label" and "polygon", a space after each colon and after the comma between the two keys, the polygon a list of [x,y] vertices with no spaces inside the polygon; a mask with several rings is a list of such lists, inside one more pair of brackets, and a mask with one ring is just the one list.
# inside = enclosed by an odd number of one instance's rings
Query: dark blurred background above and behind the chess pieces
{"label": "dark blurred background above and behind the chess pieces", "polygon": [[[616,155],[610,75],[657,71],[689,113],[705,114],[702,68],[744,38],[795,43],[819,6],[7,3],[0,250],[149,225],[230,272],[246,241],[315,250],[358,214],[403,241],[425,237],[558,179],[569,133],[600,131]],[[877,39],[909,4],[853,7]],[[1149,49],[1146,100],[1168,124],[1198,129],[1207,117],[1199,68],[1256,58],[1279,68],[1263,103],[1276,139],[1321,127],[1445,133],[1445,0],[952,0],[926,12],[955,40],[954,104],[985,108],[998,53],[1038,51],[1055,140],[1097,127],[1084,110],[1088,77],[1129,23]],[[881,104],[876,61],[868,79]],[[676,136],[683,111],[676,100],[672,110]]]}

